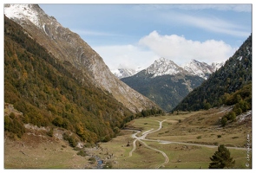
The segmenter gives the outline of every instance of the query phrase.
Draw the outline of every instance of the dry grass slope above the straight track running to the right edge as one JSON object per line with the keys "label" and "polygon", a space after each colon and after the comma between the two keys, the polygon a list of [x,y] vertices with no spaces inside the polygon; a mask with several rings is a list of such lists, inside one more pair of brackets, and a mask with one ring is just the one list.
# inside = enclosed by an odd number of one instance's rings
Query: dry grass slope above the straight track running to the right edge
{"label": "dry grass slope above the straight track running to the right edge", "polygon": [[[243,125],[220,127],[219,118],[226,108],[211,109],[205,112],[191,112],[186,117],[177,115],[165,117],[161,131],[149,134],[148,138],[199,144],[226,144],[227,146],[245,147],[247,134],[252,132],[252,122]],[[181,119],[181,123],[170,123]]]}

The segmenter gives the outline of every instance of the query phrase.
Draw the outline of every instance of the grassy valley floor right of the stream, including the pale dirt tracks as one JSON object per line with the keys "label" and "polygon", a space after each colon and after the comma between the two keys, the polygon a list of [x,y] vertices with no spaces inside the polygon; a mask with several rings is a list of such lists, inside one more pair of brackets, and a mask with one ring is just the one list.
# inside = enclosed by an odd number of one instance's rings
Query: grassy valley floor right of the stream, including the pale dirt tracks
{"label": "grassy valley floor right of the stream, including the pale dirt tracks", "polygon": [[[236,161],[234,168],[252,168],[252,153],[246,148],[252,135],[251,121],[238,120],[220,127],[219,118],[228,110],[222,107],[134,119],[127,126],[130,131],[122,131],[123,135],[102,143],[101,147],[114,154],[113,168],[207,169],[211,163],[209,157],[219,144],[225,144]],[[97,154],[104,157],[102,152]]]}

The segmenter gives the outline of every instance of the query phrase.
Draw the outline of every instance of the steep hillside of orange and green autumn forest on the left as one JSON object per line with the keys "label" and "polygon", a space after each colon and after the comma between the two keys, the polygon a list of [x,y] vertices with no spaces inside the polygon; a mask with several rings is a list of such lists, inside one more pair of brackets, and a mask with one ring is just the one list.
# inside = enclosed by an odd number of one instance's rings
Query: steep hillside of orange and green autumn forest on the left
{"label": "steep hillside of orange and green autumn forest on the left", "polygon": [[4,102],[23,116],[5,116],[4,130],[19,133],[24,124],[61,127],[82,141],[115,137],[131,116],[126,107],[96,88],[69,62],[61,63],[16,22],[4,16]]}

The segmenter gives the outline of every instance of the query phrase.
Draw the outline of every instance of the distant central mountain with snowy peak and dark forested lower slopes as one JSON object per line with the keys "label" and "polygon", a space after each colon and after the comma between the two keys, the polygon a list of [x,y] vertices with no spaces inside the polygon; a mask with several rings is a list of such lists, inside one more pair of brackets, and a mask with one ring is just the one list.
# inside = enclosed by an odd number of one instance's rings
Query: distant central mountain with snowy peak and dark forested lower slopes
{"label": "distant central mountain with snowy peak and dark forested lower slopes", "polygon": [[121,80],[152,99],[166,112],[170,112],[187,93],[204,81],[165,58],[156,60],[138,74]]}

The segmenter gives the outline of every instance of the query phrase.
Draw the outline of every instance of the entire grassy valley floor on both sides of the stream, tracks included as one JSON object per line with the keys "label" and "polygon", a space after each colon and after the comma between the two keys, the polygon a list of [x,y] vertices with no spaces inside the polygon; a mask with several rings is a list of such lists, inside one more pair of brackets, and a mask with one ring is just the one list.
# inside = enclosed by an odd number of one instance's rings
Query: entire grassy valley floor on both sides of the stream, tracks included
{"label": "entire grassy valley floor on both sides of the stream, tracks included", "polygon": [[[252,168],[251,115],[220,127],[228,107],[201,112],[179,112],[134,119],[120,135],[99,147],[87,148],[88,156],[62,140],[26,133],[23,140],[4,139],[4,168],[96,168],[97,156],[114,169],[207,169],[219,144],[229,147],[234,168]],[[135,131],[141,129],[141,131]],[[30,135],[29,135],[30,134]],[[247,155],[248,154],[248,155]]]}

